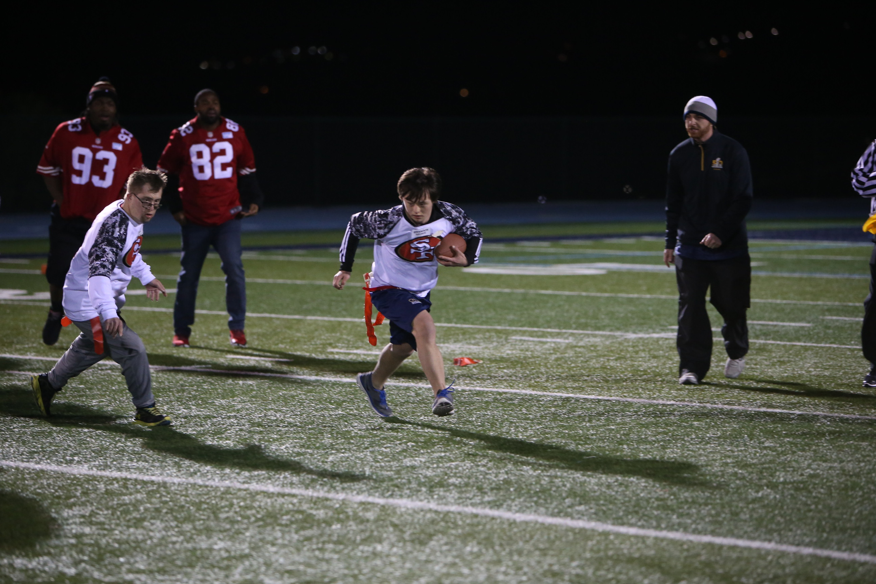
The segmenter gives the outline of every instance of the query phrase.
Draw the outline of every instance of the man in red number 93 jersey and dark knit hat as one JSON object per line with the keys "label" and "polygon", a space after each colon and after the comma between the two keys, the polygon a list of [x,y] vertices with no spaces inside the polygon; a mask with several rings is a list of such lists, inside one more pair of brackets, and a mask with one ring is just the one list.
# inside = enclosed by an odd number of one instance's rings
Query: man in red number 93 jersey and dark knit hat
{"label": "man in red number 93 jersey and dark knit hat", "polygon": [[46,279],[52,295],[43,342],[53,345],[63,316],[64,278],[91,222],[121,199],[125,180],[143,166],[137,138],[117,120],[118,95],[106,77],[88,92],[81,117],[61,123],[49,138],[37,172],[53,198]]}

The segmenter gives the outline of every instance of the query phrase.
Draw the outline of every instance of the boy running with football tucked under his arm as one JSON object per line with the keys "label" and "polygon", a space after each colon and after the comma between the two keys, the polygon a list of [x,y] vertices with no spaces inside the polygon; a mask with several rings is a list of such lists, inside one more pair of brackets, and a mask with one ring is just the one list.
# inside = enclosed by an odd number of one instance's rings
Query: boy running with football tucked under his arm
{"label": "boy running with football tucked under his arm", "polygon": [[[438,264],[464,267],[477,262],[483,236],[463,209],[438,201],[441,176],[432,168],[412,168],[398,185],[401,205],[382,211],[364,211],[350,217],[341,244],[341,270],[332,282],[338,290],[350,279],[360,238],[373,239],[374,264],[369,287],[371,303],[390,320],[390,341],[377,366],[356,377],[381,418],[392,416],[384,385],[405,359],[417,351],[423,373],[434,391],[432,413],[454,412],[453,390],[445,385],[444,362],[435,343],[435,325],[429,294],[438,283]],[[438,256],[435,248],[449,234],[465,240],[465,249],[450,245]]]}

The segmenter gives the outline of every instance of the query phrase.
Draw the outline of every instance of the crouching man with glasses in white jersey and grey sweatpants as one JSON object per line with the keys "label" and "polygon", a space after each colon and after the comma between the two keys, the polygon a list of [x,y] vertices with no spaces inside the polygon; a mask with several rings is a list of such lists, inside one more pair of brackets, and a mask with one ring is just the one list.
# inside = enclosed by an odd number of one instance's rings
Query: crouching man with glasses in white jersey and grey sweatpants
{"label": "crouching man with glasses in white jersey and grey sweatpants", "polygon": [[152,376],[146,348],[119,311],[131,278],[146,287],[146,297],[167,296],[140,255],[143,224],[161,206],[166,176],[141,168],[128,179],[123,201],[113,201],[95,218],[85,241],[70,263],[64,282],[64,312],[81,331],[48,373],[32,376],[33,398],[44,416],[52,414],[55,395],[105,356],[122,366],[137,413],[134,423],[167,426],[170,416],[159,411],[152,396]]}

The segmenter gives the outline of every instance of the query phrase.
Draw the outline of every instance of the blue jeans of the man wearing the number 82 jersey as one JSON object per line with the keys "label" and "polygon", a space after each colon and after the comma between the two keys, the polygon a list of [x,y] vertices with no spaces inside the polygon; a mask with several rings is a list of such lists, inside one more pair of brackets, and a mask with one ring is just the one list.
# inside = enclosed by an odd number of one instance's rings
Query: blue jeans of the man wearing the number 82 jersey
{"label": "blue jeans of the man wearing the number 82 jersey", "polygon": [[176,279],[176,303],[173,305],[173,332],[180,336],[192,334],[194,299],[198,295],[198,280],[210,246],[222,260],[225,272],[225,307],[228,327],[243,329],[246,320],[246,278],[240,259],[240,222],[232,219],[222,225],[195,225],[182,227],[182,254],[180,276]]}

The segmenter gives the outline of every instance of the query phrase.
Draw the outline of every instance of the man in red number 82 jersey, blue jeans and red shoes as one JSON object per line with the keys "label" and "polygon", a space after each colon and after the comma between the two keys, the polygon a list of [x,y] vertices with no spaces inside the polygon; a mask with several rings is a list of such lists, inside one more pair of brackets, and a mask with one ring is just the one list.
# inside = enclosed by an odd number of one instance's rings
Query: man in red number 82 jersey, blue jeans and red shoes
{"label": "man in red number 82 jersey, blue jeans and red shoes", "polygon": [[244,347],[246,280],[241,260],[240,222],[256,215],[264,195],[244,128],[221,116],[219,96],[202,89],[194,96],[197,114],[173,130],[159,158],[159,170],[179,177],[166,201],[182,226],[182,255],[173,306],[173,346],[188,347],[194,324],[198,280],[212,245],[225,272],[225,306],[231,344]]}

